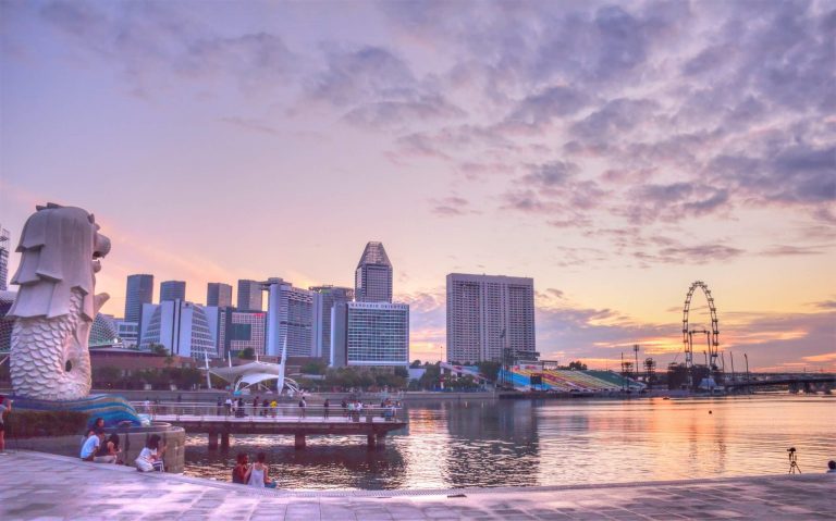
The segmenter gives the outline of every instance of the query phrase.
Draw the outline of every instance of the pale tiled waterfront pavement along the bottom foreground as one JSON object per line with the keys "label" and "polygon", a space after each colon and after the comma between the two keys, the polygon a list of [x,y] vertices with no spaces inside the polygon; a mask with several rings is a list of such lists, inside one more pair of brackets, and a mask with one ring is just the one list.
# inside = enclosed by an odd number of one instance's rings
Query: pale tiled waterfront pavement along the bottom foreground
{"label": "pale tiled waterfront pavement along the bottom foreground", "polygon": [[836,520],[836,474],[602,486],[294,493],[0,455],[0,520]]}

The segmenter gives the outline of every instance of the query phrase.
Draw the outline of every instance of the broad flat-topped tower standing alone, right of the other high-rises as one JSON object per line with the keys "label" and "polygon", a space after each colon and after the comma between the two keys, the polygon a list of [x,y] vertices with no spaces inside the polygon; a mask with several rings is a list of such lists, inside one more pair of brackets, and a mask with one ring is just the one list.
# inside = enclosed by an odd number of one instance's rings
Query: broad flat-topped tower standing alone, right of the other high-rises
{"label": "broad flat-topped tower standing alone, right of the other high-rises", "polygon": [[447,360],[499,361],[503,348],[536,351],[534,280],[447,275]]}

